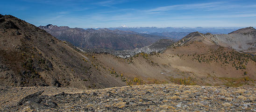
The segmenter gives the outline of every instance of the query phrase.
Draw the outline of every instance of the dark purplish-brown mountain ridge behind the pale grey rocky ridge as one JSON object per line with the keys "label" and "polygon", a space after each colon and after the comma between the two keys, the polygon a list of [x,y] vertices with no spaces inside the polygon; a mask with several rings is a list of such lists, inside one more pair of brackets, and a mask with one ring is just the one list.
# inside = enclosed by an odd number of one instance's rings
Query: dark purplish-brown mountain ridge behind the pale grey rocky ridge
{"label": "dark purplish-brown mountain ridge behind the pale grey rocky ridge", "polygon": [[142,48],[159,39],[162,36],[139,34],[132,31],[103,29],[82,29],[58,27],[56,25],[39,26],[54,37],[71,42],[71,44],[83,49],[112,49],[126,50]]}

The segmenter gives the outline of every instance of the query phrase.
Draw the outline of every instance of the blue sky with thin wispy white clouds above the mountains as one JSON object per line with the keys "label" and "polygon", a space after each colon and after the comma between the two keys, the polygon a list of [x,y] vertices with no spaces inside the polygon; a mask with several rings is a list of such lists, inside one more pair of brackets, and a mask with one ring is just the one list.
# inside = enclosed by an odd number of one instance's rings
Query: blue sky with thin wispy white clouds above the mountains
{"label": "blue sky with thin wispy white clouds above the mountains", "polygon": [[71,28],[256,26],[256,0],[2,0],[0,14]]}

